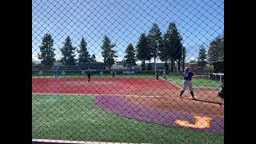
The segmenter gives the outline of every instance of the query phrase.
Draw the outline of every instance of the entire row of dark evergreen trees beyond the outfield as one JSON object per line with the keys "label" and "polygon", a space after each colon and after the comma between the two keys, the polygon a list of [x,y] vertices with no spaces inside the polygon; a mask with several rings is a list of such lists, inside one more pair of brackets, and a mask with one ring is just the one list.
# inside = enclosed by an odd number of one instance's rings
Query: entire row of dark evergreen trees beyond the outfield
{"label": "entire row of dark evergreen trees beyond the outfield", "polygon": [[[56,59],[54,58],[54,40],[50,34],[45,34],[42,38],[42,44],[39,46],[40,54],[38,58],[44,66],[53,66]],[[102,57],[103,62],[109,69],[114,65],[114,58],[117,58],[117,52],[114,50],[116,45],[111,42],[110,38],[106,35],[102,40]],[[87,42],[82,38],[79,49],[72,45],[69,36],[63,42],[62,58],[59,62],[62,62],[65,66],[75,66],[77,63],[96,62],[95,54],[90,56],[87,49]],[[75,51],[78,52],[78,59],[75,59]],[[128,44],[125,50],[124,63],[125,66],[135,66],[137,61],[141,61],[142,70],[146,69],[145,62],[159,58],[162,62],[165,62],[165,66],[168,70],[168,62],[170,62],[171,72],[174,70],[175,62],[178,62],[178,70],[183,60],[186,57],[186,49],[182,46],[182,37],[178,32],[178,29],[174,22],[170,22],[166,33],[162,34],[157,23],[154,23],[150,28],[149,33],[142,33],[136,46],[131,43]],[[184,54],[183,54],[184,53]],[[215,38],[213,42],[210,42],[210,48],[208,50],[208,62],[218,61],[224,59],[224,37]],[[206,50],[203,46],[199,48],[198,54],[198,66],[206,65]]]}

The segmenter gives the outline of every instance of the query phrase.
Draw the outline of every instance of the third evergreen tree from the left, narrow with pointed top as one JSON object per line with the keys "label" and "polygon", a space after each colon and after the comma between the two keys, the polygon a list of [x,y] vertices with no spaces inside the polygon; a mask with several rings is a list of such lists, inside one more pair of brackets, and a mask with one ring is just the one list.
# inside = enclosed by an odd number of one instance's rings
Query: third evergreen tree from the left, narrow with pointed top
{"label": "third evergreen tree from the left, narrow with pointed top", "polygon": [[87,43],[84,38],[82,38],[80,42],[80,50],[78,50],[78,62],[87,63],[90,62],[90,54],[87,50]]}

